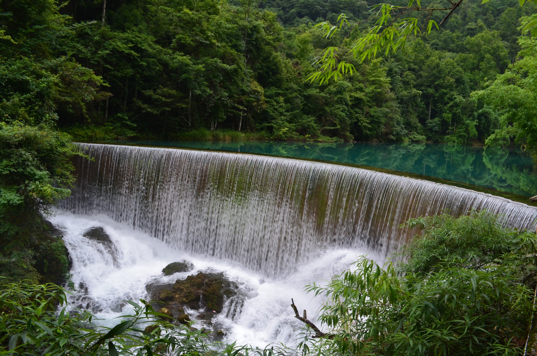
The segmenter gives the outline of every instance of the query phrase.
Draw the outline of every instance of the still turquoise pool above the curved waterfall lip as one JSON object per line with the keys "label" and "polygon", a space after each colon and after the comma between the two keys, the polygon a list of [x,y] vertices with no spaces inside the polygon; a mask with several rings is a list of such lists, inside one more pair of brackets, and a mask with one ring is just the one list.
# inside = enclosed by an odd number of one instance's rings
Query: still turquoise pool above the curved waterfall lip
{"label": "still turquoise pool above the curved waterfall lip", "polygon": [[129,141],[130,144],[211,149],[350,163],[435,177],[531,197],[537,172],[520,149],[438,144],[328,144],[274,141]]}

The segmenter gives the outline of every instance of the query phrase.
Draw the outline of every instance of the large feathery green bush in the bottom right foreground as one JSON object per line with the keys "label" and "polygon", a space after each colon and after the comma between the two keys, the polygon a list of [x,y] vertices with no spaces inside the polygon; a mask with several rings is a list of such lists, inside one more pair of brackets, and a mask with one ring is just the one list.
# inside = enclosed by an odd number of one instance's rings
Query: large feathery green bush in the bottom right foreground
{"label": "large feathery green bush in the bottom right foreground", "polygon": [[[411,219],[407,262],[367,258],[326,287],[329,338],[302,346],[344,355],[518,355],[535,333],[535,234],[487,211]],[[337,351],[336,351],[337,350]],[[529,350],[529,349],[527,349]]]}

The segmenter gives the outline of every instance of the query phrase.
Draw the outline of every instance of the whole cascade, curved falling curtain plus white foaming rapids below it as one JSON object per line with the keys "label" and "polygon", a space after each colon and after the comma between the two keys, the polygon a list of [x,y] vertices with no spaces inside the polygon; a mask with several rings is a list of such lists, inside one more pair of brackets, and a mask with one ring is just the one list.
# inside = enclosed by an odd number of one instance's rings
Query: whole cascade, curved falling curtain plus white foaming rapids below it
{"label": "whole cascade, curved falling curtain plus white foaming rapids below it", "polygon": [[[537,209],[503,198],[373,170],[250,154],[81,144],[76,189],[59,207],[79,287],[72,302],[107,319],[125,299],[187,259],[244,287],[217,323],[229,338],[288,343],[300,326],[289,308],[313,313],[304,284],[327,279],[362,252],[383,259],[414,233],[398,226],[444,209],[488,209],[507,225],[534,227]],[[66,213],[63,213],[67,211]],[[114,248],[82,234],[103,226]],[[313,272],[312,272],[313,271]],[[166,280],[168,279],[168,280]],[[265,279],[266,283],[260,280]],[[192,311],[192,315],[194,312]]]}

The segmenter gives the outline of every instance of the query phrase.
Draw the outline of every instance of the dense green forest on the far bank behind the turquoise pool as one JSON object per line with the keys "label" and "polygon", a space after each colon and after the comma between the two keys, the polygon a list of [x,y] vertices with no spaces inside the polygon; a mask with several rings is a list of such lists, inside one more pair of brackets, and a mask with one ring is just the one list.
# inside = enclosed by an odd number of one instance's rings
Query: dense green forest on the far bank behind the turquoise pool
{"label": "dense green forest on the far bank behind the turquoise pool", "polygon": [[[376,20],[367,20],[371,4],[125,0],[104,12],[103,5],[0,2],[5,119],[57,120],[85,140],[212,138],[226,129],[281,140],[484,144],[492,136],[490,145],[536,145],[527,135],[535,131],[524,104],[531,97],[492,93],[517,75],[520,90],[531,92],[533,40],[519,27],[533,3],[466,0],[439,31],[409,37],[403,51],[364,62],[340,51],[355,73],[321,86],[307,81],[312,63],[325,47],[360,39]],[[342,12],[352,28],[325,38],[314,27]]]}

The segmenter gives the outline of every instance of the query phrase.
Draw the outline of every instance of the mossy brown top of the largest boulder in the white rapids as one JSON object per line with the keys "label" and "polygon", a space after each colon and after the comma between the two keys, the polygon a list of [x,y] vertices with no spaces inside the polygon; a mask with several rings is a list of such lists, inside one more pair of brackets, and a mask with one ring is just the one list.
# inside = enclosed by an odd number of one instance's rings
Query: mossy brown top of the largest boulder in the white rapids
{"label": "mossy brown top of the largest boulder in the white rapids", "polygon": [[192,309],[207,307],[209,310],[221,312],[224,297],[234,296],[237,288],[223,273],[200,272],[184,280],[177,280],[173,285],[173,294],[177,303]]}

